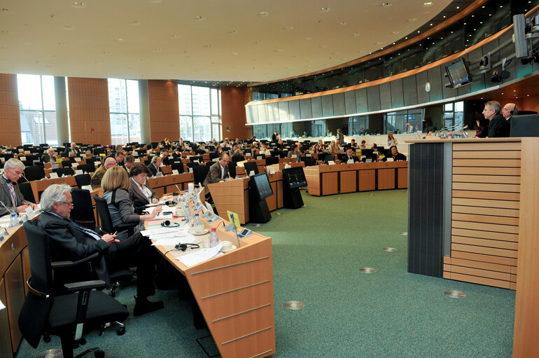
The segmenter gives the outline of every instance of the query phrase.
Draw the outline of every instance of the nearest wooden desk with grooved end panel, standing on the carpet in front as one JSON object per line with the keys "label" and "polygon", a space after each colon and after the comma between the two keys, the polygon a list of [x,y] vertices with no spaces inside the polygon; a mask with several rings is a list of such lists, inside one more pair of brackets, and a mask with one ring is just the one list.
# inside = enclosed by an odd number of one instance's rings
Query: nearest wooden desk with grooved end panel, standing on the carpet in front
{"label": "nearest wooden desk with grooved end panel, standing on the carpet in front", "polygon": [[[206,228],[217,227],[219,240],[238,246],[235,234],[218,223],[202,218]],[[189,251],[157,249],[168,252],[167,261],[186,277],[221,357],[267,357],[275,353],[272,239],[253,233],[240,242],[239,248],[191,267],[175,259]]]}

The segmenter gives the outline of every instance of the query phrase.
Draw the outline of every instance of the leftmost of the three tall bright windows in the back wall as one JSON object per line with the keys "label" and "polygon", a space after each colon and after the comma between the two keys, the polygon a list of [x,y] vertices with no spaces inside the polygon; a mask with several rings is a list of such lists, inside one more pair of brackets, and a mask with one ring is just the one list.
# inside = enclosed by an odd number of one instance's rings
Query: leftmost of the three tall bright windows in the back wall
{"label": "leftmost of the three tall bright windows in the back wall", "polygon": [[57,146],[54,77],[18,74],[17,85],[22,144]]}

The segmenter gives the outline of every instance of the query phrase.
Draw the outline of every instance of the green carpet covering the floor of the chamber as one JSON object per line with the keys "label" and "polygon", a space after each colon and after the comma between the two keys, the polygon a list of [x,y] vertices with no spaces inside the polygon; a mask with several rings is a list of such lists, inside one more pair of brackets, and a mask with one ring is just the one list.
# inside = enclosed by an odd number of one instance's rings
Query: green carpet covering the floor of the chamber
{"label": "green carpet covering the floor of the chamber", "polygon": [[[247,225],[272,237],[273,357],[511,356],[514,291],[407,273],[407,237],[400,235],[407,231],[407,191],[302,194],[305,207],[272,212],[261,227]],[[361,273],[363,267],[377,273]],[[467,297],[448,298],[447,289]],[[133,294],[134,285],[118,294],[130,312]],[[130,316],[125,336],[88,333],[76,352],[99,345],[106,357],[206,357],[196,338],[209,333],[193,328],[190,301],[177,291],[155,298],[165,309]],[[287,310],[286,301],[305,307]],[[23,340],[16,357],[54,347],[54,337],[37,350]]]}

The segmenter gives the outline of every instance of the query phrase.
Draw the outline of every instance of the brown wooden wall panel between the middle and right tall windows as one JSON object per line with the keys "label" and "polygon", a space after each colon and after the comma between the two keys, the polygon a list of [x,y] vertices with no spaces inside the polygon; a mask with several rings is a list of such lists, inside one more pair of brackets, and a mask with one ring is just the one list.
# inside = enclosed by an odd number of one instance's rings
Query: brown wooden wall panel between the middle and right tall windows
{"label": "brown wooden wall panel between the middle and right tall windows", "polygon": [[148,80],[148,105],[152,142],[161,142],[165,138],[174,140],[181,137],[178,85],[176,82]]}

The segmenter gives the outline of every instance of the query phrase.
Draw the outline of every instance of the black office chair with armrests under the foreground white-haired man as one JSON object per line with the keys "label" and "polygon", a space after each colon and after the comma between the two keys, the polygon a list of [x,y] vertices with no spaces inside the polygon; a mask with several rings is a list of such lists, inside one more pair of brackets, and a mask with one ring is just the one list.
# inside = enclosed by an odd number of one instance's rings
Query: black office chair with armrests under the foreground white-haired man
{"label": "black office chair with armrests under the foreground white-haired man", "polygon": [[[36,221],[37,222],[37,221]],[[64,287],[69,294],[56,296],[52,268],[72,270],[86,266],[99,257],[93,254],[79,261],[50,261],[48,235],[31,221],[24,224],[28,244],[31,276],[27,281],[29,293],[22,305],[18,323],[22,336],[36,348],[41,336],[50,341],[49,334],[59,336],[63,357],[73,358],[73,348],[84,344],[83,326],[99,327],[108,322],[124,322],[129,312],[118,301],[102,291],[102,280],[71,282]],[[95,357],[104,352],[94,351]]]}

